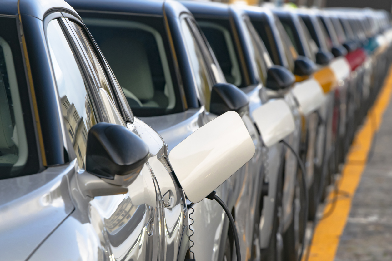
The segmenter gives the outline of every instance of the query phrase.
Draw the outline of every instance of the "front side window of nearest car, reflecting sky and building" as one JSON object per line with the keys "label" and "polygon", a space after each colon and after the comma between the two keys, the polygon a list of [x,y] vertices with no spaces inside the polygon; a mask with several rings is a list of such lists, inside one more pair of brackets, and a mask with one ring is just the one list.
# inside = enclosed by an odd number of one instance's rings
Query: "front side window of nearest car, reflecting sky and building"
{"label": "front side window of nearest car, reflecting sky and building", "polygon": [[93,108],[91,90],[83,77],[67,38],[58,20],[47,25],[47,41],[56,79],[64,127],[78,158],[80,168],[85,167],[87,133],[98,119]]}

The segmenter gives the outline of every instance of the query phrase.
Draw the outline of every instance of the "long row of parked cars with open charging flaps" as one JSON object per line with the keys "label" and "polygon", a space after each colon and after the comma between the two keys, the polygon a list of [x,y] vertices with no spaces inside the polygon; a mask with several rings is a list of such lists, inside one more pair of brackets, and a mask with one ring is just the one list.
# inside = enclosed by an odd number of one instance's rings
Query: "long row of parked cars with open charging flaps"
{"label": "long row of parked cars with open charging flaps", "polygon": [[[371,9],[0,5],[0,252],[297,261],[392,59]],[[211,198],[209,196],[209,198]]]}

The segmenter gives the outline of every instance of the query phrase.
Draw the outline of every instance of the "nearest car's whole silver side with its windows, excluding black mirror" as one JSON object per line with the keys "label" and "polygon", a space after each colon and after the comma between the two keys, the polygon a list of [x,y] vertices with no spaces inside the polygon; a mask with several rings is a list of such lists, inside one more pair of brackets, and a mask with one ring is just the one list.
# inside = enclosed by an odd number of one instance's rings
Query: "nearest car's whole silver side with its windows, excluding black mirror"
{"label": "nearest car's whole silver side with its windows, excluding black mirror", "polygon": [[[122,101],[118,99],[122,94],[113,88],[114,77],[83,24],[65,13],[51,14],[49,18],[44,23],[61,102],[67,154],[70,160],[76,158],[77,173],[70,177],[70,186],[77,207],[33,259],[39,260],[51,249],[58,250],[64,260],[176,259],[183,231],[183,203],[180,190],[169,174],[171,169],[162,157],[165,156],[162,138],[136,118],[125,122],[120,111],[127,108],[119,106]],[[149,163],[129,185],[127,194],[88,198],[78,193],[76,176],[84,172],[87,133],[98,122],[127,126],[149,145]],[[163,180],[165,200],[157,177]],[[174,212],[170,225],[163,223],[164,208]],[[165,237],[166,233],[170,235]],[[61,239],[69,239],[71,243],[56,247]],[[70,247],[74,247],[73,251],[69,251]]]}

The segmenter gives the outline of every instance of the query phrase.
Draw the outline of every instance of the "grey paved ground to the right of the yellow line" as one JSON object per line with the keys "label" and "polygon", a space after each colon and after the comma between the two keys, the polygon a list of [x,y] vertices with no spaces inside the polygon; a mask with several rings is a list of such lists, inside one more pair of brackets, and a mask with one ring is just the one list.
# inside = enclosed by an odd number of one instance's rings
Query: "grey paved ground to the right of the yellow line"
{"label": "grey paved ground to the right of the yellow line", "polygon": [[373,146],[335,261],[392,260],[392,103]]}

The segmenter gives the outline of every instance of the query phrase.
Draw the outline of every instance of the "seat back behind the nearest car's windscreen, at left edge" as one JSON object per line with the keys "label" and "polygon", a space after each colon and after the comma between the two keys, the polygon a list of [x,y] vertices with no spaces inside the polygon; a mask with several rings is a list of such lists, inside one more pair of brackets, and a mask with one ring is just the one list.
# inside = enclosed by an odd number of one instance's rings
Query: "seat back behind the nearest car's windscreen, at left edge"
{"label": "seat back behind the nearest car's windscreen, at left edge", "polygon": [[4,81],[0,74],[0,150],[14,146],[14,142],[11,139],[13,131],[7,94],[5,93]]}

